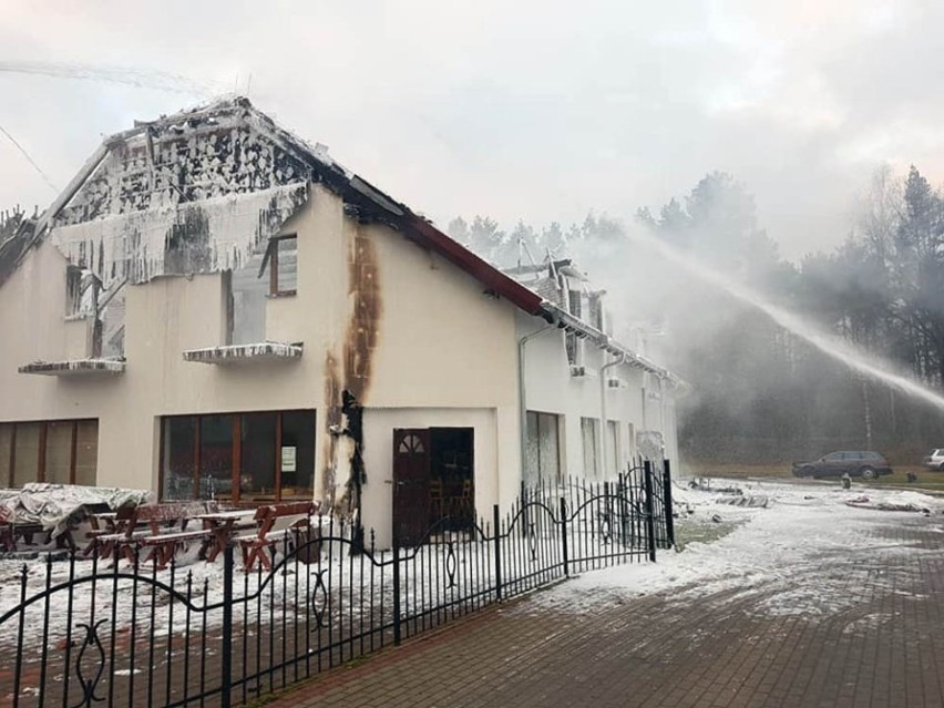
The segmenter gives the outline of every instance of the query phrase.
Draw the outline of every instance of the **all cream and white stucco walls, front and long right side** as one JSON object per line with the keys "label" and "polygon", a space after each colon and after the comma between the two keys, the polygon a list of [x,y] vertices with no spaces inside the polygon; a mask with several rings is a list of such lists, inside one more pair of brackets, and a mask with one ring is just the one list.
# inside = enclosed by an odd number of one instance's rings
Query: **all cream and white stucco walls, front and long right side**
{"label": "all cream and white stucco walls, front and long right side", "polygon": [[[88,346],[89,322],[64,316],[66,260],[45,243],[0,287],[0,422],[96,418],[99,483],[157,491],[161,417],[315,409],[319,496],[329,480],[342,488],[347,479],[349,451],[328,425],[340,422],[340,391],[350,388],[366,409],[365,519],[380,538],[390,533],[394,428],[473,428],[479,511],[506,509],[521,481],[519,340],[544,321],[486,296],[479,280],[402,234],[346,216],[319,185],[309,195],[279,232],[298,238],[298,295],[266,300],[266,338],[304,342],[300,359],[184,361],[185,350],[225,343],[226,278],[164,276],[126,286],[125,373],[21,374],[19,366],[80,358]],[[598,371],[603,352],[583,347],[585,366]],[[607,377],[624,382],[605,394],[625,466],[628,424],[644,429],[643,374],[618,366]],[[582,473],[581,418],[601,418],[599,383],[570,376],[562,330],[527,343],[526,407],[563,415],[565,473]],[[665,411],[650,401],[645,418],[649,428],[657,419],[665,425],[671,456],[669,399]]]}

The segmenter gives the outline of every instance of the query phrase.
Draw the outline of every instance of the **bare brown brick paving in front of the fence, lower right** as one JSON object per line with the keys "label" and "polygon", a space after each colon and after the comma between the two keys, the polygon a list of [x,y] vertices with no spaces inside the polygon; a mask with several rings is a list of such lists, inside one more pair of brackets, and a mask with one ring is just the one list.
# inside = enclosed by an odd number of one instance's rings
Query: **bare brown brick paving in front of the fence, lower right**
{"label": "bare brown brick paving in front of the fence, lower right", "polygon": [[788,585],[791,573],[798,582],[828,574],[829,592],[842,601],[830,610],[771,612],[773,599],[789,595],[763,586],[697,599],[674,588],[597,606],[558,586],[270,705],[944,706],[942,517],[896,514],[876,533],[883,537],[869,553],[784,568]]}

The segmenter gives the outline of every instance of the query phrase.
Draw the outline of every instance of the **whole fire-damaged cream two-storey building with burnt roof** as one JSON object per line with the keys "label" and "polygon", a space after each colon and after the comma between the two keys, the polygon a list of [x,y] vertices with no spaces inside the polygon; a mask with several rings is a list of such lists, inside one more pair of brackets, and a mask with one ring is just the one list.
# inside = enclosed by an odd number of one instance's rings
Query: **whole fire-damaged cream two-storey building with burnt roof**
{"label": "whole fire-damaged cream two-storey building with burnt roof", "polygon": [[0,484],[314,496],[383,541],[603,479],[639,433],[674,451],[676,380],[574,283],[499,271],[245,99],[136,123],[0,245]]}

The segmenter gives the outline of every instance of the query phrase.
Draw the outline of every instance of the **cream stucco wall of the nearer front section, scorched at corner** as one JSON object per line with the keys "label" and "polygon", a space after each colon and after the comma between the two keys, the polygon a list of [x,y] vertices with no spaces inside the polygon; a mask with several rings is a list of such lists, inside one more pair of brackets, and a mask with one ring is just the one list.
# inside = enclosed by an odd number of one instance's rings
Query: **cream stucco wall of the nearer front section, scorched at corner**
{"label": "cream stucco wall of the nearer front section, scorched at corner", "polygon": [[[464,411],[455,424],[474,419],[476,460],[491,479],[481,488],[483,500],[501,496],[499,469],[509,475],[507,490],[516,489],[514,307],[486,297],[478,280],[401,234],[346,217],[332,193],[312,185],[310,195],[280,230],[298,237],[298,295],[266,301],[266,338],[304,342],[299,360],[185,361],[185,350],[225,341],[224,277],[207,274],[127,286],[123,374],[18,373],[30,361],[80,358],[85,346],[86,322],[64,317],[65,258],[47,243],[0,288],[0,327],[19,334],[0,348],[0,421],[96,418],[99,483],[156,491],[162,415],[316,409],[320,489],[334,465],[338,483],[346,478],[347,456],[327,434],[328,413],[339,403],[340,390],[357,383],[369,411],[418,409],[425,427],[447,424],[442,421],[453,419],[450,411]],[[353,248],[366,242],[372,263],[357,265]],[[347,371],[348,349],[358,336],[351,280],[356,268],[366,267],[374,269],[371,277],[380,284],[379,315],[369,376],[355,381]],[[390,430],[378,434],[387,440]],[[389,445],[384,451],[389,454]],[[389,475],[389,460],[382,462],[377,453],[368,464],[387,465],[379,474],[368,469],[369,479]],[[366,492],[382,496],[371,484]]]}

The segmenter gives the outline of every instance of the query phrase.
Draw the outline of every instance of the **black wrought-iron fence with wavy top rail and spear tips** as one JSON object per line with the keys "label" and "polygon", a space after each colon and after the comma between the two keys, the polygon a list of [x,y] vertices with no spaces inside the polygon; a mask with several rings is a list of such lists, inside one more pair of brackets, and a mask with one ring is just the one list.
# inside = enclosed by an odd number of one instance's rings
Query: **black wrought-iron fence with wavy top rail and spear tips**
{"label": "black wrought-iron fence with wavy top rail and spear tips", "polygon": [[[72,555],[0,578],[0,705],[232,706],[489,604],[584,571],[655,561],[673,544],[668,463],[618,479],[523,488],[502,514],[442,520],[414,547],[352,553],[319,520],[271,571],[104,567]],[[178,567],[179,565],[179,567]],[[13,602],[10,593],[16,593]]]}

